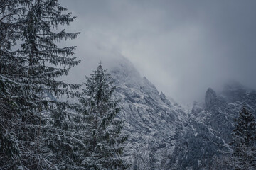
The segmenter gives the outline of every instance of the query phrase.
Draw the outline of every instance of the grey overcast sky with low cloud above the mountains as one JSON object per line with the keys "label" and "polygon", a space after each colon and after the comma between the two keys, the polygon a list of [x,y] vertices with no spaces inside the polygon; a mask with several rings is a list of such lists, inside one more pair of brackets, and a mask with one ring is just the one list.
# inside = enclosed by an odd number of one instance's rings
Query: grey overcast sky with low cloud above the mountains
{"label": "grey overcast sky with low cloud above the mountains", "polygon": [[65,42],[77,45],[82,59],[69,81],[79,83],[100,60],[122,55],[179,102],[198,100],[228,79],[256,89],[255,0],[59,3],[78,17],[68,30],[81,32]]}

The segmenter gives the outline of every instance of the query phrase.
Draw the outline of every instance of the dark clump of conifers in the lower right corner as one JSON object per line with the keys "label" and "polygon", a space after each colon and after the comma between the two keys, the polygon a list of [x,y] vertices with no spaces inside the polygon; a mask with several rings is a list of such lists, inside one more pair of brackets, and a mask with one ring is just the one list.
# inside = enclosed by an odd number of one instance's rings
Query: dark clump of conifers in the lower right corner
{"label": "dark clump of conifers in the lower right corner", "polygon": [[213,169],[256,169],[256,122],[249,108],[243,106],[235,118],[228,152],[219,152],[213,159]]}

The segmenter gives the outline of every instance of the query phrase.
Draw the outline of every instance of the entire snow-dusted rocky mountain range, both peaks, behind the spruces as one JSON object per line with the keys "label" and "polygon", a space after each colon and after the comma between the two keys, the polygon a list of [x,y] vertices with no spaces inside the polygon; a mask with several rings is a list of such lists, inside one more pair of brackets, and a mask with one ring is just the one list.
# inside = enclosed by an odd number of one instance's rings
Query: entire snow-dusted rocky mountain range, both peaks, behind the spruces
{"label": "entire snow-dusted rocky mountain range, both peaks, behind the spruces", "polygon": [[216,160],[228,151],[240,108],[256,111],[256,92],[238,83],[226,84],[219,94],[209,88],[204,102],[183,108],[159,93],[129,60],[116,63],[109,71],[122,98],[131,169],[219,169]]}

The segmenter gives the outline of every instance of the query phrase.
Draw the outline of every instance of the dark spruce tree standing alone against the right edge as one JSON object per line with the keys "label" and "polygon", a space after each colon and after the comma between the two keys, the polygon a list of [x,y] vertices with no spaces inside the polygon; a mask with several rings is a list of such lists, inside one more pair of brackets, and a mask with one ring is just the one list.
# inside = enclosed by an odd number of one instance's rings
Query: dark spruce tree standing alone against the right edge
{"label": "dark spruce tree standing alone against the right edge", "polygon": [[243,107],[235,121],[230,147],[235,169],[256,169],[256,123],[252,112]]}

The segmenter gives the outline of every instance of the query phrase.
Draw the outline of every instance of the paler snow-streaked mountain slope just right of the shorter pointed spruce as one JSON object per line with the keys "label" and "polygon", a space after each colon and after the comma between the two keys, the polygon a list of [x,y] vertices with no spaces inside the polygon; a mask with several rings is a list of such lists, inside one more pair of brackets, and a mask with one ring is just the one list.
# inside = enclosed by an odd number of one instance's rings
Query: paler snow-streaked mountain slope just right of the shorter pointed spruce
{"label": "paler snow-streaked mountain slope just right of the shorter pointed spruce", "polygon": [[141,77],[125,58],[109,69],[122,98],[124,131],[129,134],[127,159],[132,169],[166,169],[167,157],[188,120],[177,103]]}

